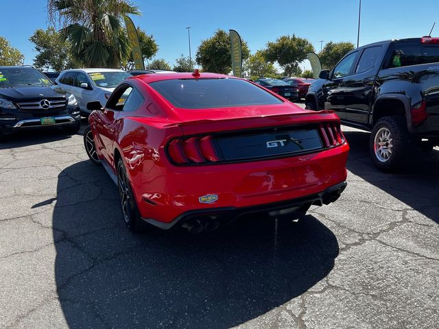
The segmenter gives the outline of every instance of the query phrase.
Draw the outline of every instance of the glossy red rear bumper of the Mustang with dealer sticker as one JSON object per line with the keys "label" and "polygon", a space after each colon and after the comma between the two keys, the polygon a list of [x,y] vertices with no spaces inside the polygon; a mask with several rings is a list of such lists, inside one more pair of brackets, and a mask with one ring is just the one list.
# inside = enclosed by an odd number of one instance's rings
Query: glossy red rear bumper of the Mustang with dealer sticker
{"label": "glossy red rear bumper of the Mustang with dealer sticker", "polygon": [[310,195],[321,198],[321,193],[346,181],[348,150],[345,143],[314,154],[254,162],[143,164],[130,171],[130,181],[141,217],[169,224],[195,210],[248,208]]}

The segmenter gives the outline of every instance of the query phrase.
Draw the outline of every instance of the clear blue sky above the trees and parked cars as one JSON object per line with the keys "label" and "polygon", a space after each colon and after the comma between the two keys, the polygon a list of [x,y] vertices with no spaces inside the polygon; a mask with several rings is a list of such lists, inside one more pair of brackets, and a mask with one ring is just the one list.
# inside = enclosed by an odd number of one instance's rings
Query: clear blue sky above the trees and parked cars
{"label": "clear blue sky above the trees and parked cars", "polygon": [[[132,17],[136,25],[153,34],[159,46],[156,58],[170,64],[189,55],[187,29],[191,26],[191,49],[195,57],[201,40],[216,29],[236,29],[252,52],[278,36],[296,34],[307,38],[320,51],[329,41],[357,42],[358,0],[132,0],[143,15]],[[439,1],[361,1],[360,45],[390,38],[439,36]],[[25,55],[25,64],[35,56],[29,42],[35,29],[48,25],[46,0],[0,0],[0,36]],[[307,65],[306,65],[307,66]]]}

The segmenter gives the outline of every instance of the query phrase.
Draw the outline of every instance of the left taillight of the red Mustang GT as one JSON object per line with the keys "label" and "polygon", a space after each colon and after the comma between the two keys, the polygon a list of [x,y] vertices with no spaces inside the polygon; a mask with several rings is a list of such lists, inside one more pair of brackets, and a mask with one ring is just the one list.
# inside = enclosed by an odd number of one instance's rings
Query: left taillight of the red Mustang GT
{"label": "left taillight of the red Mustang GT", "polygon": [[176,138],[167,146],[167,154],[176,164],[203,164],[218,162],[212,136]]}

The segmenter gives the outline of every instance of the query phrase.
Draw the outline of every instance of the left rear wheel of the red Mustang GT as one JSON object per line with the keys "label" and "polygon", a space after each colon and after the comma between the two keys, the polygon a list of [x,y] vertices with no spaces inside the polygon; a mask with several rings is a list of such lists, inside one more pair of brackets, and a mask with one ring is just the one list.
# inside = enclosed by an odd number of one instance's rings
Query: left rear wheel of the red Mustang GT
{"label": "left rear wheel of the red Mustang GT", "polygon": [[121,201],[123,222],[126,227],[133,232],[141,232],[145,225],[141,219],[136,199],[132,193],[132,188],[122,159],[117,161],[117,188]]}

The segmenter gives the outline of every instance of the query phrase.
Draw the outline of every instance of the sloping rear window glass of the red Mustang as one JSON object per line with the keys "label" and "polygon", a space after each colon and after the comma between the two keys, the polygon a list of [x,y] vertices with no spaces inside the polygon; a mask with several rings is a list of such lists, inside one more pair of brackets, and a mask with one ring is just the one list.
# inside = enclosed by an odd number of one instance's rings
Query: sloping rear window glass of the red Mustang
{"label": "sloping rear window glass of the red Mustang", "polygon": [[176,79],[152,82],[150,86],[177,108],[227,108],[282,103],[281,99],[246,80]]}

